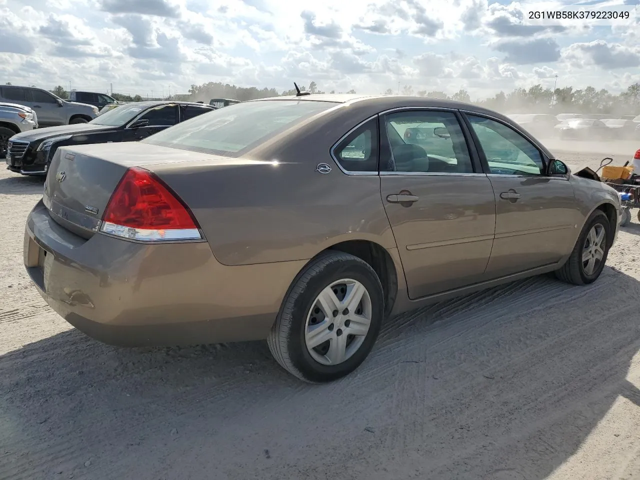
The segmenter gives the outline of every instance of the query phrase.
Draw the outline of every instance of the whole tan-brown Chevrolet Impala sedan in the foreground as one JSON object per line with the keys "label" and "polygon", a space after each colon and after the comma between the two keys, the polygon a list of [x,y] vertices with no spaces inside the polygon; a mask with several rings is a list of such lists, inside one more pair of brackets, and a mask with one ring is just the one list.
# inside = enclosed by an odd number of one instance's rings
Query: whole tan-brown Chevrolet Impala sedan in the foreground
{"label": "whole tan-brown Chevrolet Impala sedan in the foreground", "polygon": [[266,339],[321,382],[364,361],[385,317],[550,271],[593,282],[619,212],[493,111],[301,94],[59,148],[24,264],[95,339]]}

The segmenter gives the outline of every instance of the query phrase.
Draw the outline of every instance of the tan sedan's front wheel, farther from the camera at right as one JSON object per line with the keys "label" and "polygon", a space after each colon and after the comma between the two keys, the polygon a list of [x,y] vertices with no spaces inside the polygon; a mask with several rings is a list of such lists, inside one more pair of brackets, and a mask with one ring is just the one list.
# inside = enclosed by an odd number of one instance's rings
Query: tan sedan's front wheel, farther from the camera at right
{"label": "tan sedan's front wheel, farther from the camera at right", "polygon": [[602,273],[611,243],[609,218],[600,210],[587,219],[570,257],[556,270],[556,277],[573,285],[595,282]]}

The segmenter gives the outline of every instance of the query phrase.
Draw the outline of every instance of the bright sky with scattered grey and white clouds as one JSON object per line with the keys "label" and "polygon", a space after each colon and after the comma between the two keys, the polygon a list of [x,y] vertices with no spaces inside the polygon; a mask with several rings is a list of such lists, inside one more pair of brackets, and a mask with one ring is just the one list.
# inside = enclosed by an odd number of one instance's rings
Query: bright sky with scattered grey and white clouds
{"label": "bright sky with scattered grey and white clouds", "polygon": [[[547,7],[560,3],[575,2]],[[285,90],[314,80],[327,92],[400,83],[465,88],[476,99],[552,87],[556,75],[559,87],[614,92],[640,81],[640,24],[526,26],[529,9],[505,0],[0,0],[0,83],[166,95],[207,81]]]}

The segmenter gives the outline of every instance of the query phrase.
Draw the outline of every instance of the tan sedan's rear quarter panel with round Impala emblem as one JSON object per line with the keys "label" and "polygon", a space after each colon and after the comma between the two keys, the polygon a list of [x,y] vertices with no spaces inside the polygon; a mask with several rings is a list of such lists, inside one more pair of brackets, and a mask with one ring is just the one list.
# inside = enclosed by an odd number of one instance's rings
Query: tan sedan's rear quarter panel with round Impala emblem
{"label": "tan sedan's rear quarter panel with round Impala emblem", "polygon": [[[225,265],[303,260],[333,244],[369,240],[396,248],[380,177],[346,175],[329,150],[374,111],[337,111],[275,136],[243,159],[153,168],[191,207]],[[328,163],[332,171],[316,172]]]}

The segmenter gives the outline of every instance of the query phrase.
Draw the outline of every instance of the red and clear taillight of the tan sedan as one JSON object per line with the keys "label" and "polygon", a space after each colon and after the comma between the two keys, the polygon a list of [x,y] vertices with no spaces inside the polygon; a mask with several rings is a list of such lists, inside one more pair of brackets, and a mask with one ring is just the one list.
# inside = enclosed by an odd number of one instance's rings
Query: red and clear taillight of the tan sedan
{"label": "red and clear taillight of the tan sedan", "polygon": [[103,232],[141,241],[200,239],[189,209],[162,180],[129,168],[102,216]]}

